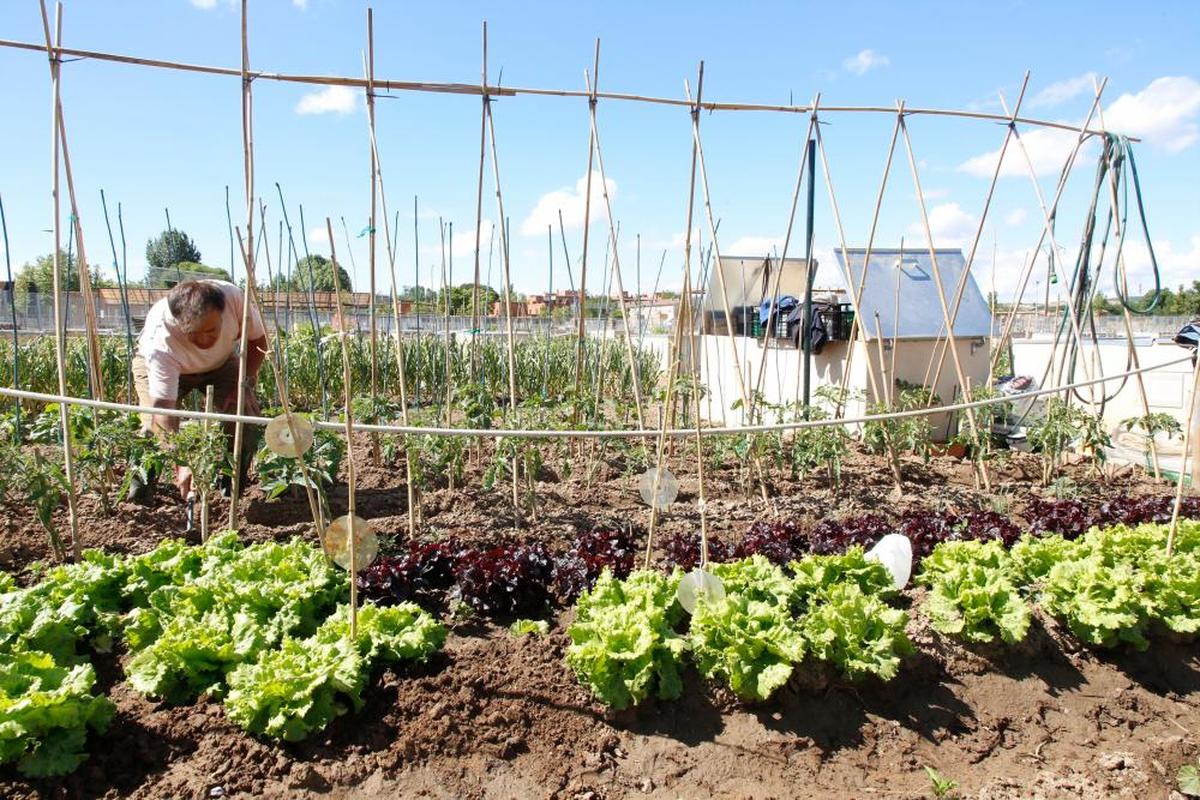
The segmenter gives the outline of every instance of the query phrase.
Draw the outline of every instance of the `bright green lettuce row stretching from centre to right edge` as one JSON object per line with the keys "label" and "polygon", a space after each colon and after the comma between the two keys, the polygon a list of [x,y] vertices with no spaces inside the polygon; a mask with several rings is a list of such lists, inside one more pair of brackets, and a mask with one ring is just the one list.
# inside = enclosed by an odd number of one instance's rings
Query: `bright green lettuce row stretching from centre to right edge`
{"label": "bright green lettuce row stretching from centre to right edge", "polygon": [[[947,541],[922,561],[922,606],[932,627],[968,643],[1022,640],[1033,607],[1096,646],[1148,646],[1160,631],[1200,631],[1200,522],[1181,521],[1166,557],[1165,524],[1092,528],[1067,541],[1026,535]],[[860,548],[811,555],[787,570],[761,555],[714,564],[725,596],[701,600],[684,631],[676,601],[682,577],[607,572],[580,597],[566,662],[604,703],[623,709],[652,693],[672,699],[685,652],[706,678],[748,700],[764,700],[805,660],[851,680],[895,678],[913,651],[908,614],[889,604],[888,572]]]}

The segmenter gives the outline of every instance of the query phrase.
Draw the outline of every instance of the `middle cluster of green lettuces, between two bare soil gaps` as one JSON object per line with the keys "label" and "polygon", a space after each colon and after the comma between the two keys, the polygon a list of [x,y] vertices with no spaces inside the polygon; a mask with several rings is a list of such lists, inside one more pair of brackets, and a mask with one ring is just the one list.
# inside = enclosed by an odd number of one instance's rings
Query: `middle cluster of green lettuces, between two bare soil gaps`
{"label": "middle cluster of green lettuces, between two bare soil gaps", "polygon": [[888,680],[912,649],[905,613],[886,602],[894,594],[887,571],[859,548],[793,563],[794,577],[761,555],[712,570],[725,597],[700,602],[685,634],[676,631],[679,572],[635,572],[625,582],[605,573],[580,597],[568,663],[598,698],[622,709],[652,692],[678,697],[685,651],[703,675],[764,700],[806,654],[851,679]]}

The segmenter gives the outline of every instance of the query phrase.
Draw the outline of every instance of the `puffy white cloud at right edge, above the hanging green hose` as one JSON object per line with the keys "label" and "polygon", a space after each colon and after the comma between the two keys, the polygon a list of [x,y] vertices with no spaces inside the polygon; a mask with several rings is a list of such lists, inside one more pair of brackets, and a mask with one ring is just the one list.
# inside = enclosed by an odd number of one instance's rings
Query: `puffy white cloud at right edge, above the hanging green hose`
{"label": "puffy white cloud at right edge, above the hanging green hose", "polygon": [[1104,112],[1110,131],[1139,137],[1178,152],[1200,139],[1200,83],[1192,78],[1156,78],[1134,95],[1121,95]]}

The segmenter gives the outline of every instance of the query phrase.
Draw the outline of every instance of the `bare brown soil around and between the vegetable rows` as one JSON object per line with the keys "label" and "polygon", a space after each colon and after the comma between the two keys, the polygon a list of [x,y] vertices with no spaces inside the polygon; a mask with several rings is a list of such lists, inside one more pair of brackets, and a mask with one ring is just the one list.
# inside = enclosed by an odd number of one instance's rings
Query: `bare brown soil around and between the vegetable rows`
{"label": "bare brown soil around and between the vegetable rows", "polygon": [[[1019,518],[1037,463],[1020,453],[994,470],[994,492],[974,488],[967,464],[906,463],[893,493],[880,459],[854,455],[839,489],[821,477],[785,481],[768,509],[742,494],[733,474],[707,475],[710,529],[736,541],[754,519],[808,522],[863,511],[998,507]],[[581,473],[582,470],[575,470]],[[680,468],[679,503],[661,530],[695,530],[695,476]],[[1082,497],[1165,493],[1144,474],[1090,476],[1072,468]],[[388,541],[407,539],[402,470],[362,459],[359,512]],[[424,498],[422,536],[470,542],[530,537],[565,547],[602,521],[644,524],[636,477],[601,470],[539,485],[538,510],[514,531],[508,487],[467,487]],[[714,499],[715,498],[715,499]],[[344,489],[335,491],[335,512]],[[227,504],[212,510],[223,524]],[[252,488],[248,540],[311,535],[302,498],[266,501]],[[160,489],[155,506],[80,504],[85,547],[144,552],[180,535],[182,505]],[[62,518],[66,525],[65,517]],[[0,567],[36,578],[49,559],[29,513],[0,516]],[[908,600],[919,608],[920,590]],[[620,714],[593,702],[563,662],[571,612],[548,637],[516,639],[504,627],[456,624],[445,651],[420,668],[385,672],[366,708],[295,745],[256,740],[217,702],[167,706],[130,690],[120,654],[96,656],[98,687],[118,706],[72,776],[26,781],[0,770],[11,798],[929,798],[924,766],[960,782],[960,796],[1168,798],[1176,769],[1200,751],[1200,648],[1154,642],[1146,654],[1079,649],[1038,619],[1019,646],[967,648],[917,614],[918,652],[889,684],[846,685],[802,669],[769,703],[750,706],[690,674],[684,697]]]}

